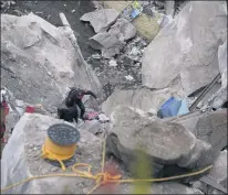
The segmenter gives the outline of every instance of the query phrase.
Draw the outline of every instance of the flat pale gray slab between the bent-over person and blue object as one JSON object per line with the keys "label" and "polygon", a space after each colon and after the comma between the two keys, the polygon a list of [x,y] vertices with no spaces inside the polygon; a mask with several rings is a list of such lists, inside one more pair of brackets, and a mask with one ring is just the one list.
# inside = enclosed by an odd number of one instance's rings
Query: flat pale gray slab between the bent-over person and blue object
{"label": "flat pale gray slab between the bent-over person and blue object", "polygon": [[134,108],[148,111],[154,108],[158,111],[162,104],[170,97],[169,89],[151,90],[145,87],[137,87],[136,89],[120,89],[116,88],[114,93],[102,104],[102,110],[110,116],[113,109],[120,105],[131,106]]}

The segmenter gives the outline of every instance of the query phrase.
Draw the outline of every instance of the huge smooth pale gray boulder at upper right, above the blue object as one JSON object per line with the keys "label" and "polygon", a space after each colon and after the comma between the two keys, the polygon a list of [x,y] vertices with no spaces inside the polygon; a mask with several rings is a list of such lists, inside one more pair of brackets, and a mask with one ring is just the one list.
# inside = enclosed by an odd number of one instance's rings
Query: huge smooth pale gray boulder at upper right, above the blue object
{"label": "huge smooth pale gray boulder at upper right, above the blue object", "polygon": [[226,36],[225,1],[188,2],[145,50],[143,85],[164,88],[179,76],[186,95],[206,86],[219,73],[218,46]]}

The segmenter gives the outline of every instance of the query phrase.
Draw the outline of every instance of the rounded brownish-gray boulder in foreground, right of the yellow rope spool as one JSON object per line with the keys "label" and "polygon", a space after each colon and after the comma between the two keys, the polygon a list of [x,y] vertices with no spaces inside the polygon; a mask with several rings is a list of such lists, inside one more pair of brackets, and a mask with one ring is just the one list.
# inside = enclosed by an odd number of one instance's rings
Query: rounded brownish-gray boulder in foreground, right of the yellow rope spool
{"label": "rounded brownish-gray boulder in foreground, right of the yellow rope spool", "polygon": [[111,121],[107,153],[121,159],[126,167],[132,167],[138,145],[146,151],[155,175],[172,164],[201,169],[213,164],[218,155],[210,144],[196,139],[182,124],[163,122],[139,109],[118,106]]}

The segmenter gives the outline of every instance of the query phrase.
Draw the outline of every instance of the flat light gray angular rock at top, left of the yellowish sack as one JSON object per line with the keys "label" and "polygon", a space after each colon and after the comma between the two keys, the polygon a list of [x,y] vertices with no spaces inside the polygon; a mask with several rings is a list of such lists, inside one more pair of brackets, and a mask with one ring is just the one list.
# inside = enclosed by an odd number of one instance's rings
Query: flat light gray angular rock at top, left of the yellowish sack
{"label": "flat light gray angular rock at top, left of the yellowish sack", "polygon": [[90,22],[96,33],[106,31],[118,18],[115,9],[102,9],[81,17],[81,21]]}

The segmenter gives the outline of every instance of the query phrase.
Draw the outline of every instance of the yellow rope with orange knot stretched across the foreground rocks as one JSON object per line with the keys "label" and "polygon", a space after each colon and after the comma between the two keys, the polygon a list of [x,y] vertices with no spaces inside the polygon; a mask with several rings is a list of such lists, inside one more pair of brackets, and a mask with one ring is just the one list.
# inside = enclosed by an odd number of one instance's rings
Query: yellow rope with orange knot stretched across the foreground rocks
{"label": "yellow rope with orange knot stretched across the foreground rocks", "polygon": [[[105,152],[106,152],[106,139],[104,139],[103,142],[103,156],[102,156],[102,172],[97,173],[96,175],[93,175],[91,173],[91,169],[92,166],[90,164],[85,164],[85,163],[76,163],[72,166],[72,171],[74,172],[74,174],[45,174],[45,175],[39,175],[39,176],[31,176],[29,178],[25,178],[21,182],[14,183],[12,185],[9,185],[4,188],[1,189],[2,192],[6,192],[10,188],[13,188],[18,185],[22,185],[27,182],[30,182],[32,180],[38,180],[38,178],[45,178],[45,177],[83,177],[83,178],[91,178],[94,180],[96,185],[95,187],[93,187],[87,194],[92,194],[95,189],[97,189],[101,185],[105,185],[106,183],[134,183],[134,182],[165,182],[165,181],[172,181],[172,180],[177,180],[177,178],[184,178],[184,177],[188,177],[188,176],[195,176],[198,174],[201,174],[208,170],[210,170],[213,167],[213,165],[209,165],[203,170],[193,172],[193,173],[187,173],[187,174],[182,174],[182,175],[176,175],[176,176],[169,176],[169,177],[163,177],[163,178],[142,178],[142,180],[121,180],[121,175],[115,175],[112,176],[110,173],[104,172],[104,164],[105,164]],[[86,171],[80,171],[79,166],[84,166],[87,167]]]}

